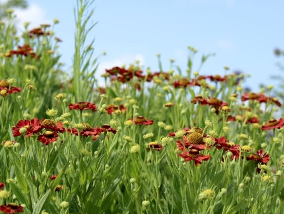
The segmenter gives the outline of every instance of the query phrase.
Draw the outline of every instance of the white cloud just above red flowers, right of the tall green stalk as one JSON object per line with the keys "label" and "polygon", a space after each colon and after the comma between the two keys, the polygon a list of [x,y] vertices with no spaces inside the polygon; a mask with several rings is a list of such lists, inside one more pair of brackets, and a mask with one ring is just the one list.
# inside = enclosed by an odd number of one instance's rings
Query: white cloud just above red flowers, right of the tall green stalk
{"label": "white cloud just above red flowers, right of the tall green stalk", "polygon": [[101,77],[101,74],[105,72],[105,69],[111,69],[115,66],[121,67],[122,65],[126,65],[128,66],[129,64],[133,64],[135,63],[136,60],[140,61],[140,65],[143,66],[145,65],[145,58],[142,54],[136,54],[134,56],[130,56],[130,55],[123,55],[120,56],[114,60],[109,60],[109,61],[103,61],[101,60],[101,62],[98,65],[97,71],[95,73],[95,76],[97,78],[97,82],[98,85],[103,85],[104,84],[104,80]]}

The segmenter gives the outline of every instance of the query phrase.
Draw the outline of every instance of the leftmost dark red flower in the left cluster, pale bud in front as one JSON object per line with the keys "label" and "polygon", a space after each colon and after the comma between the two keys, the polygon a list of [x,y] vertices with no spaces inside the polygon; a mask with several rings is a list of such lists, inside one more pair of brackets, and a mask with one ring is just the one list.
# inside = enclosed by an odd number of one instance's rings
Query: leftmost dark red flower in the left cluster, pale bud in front
{"label": "leftmost dark red flower in the left cluster, pale bud in front", "polygon": [[41,131],[42,127],[40,125],[40,120],[38,118],[34,118],[32,120],[20,120],[16,126],[12,127],[13,136],[20,136],[20,129],[26,128],[27,131],[25,132],[25,135],[27,138],[29,138],[31,135],[38,133]]}

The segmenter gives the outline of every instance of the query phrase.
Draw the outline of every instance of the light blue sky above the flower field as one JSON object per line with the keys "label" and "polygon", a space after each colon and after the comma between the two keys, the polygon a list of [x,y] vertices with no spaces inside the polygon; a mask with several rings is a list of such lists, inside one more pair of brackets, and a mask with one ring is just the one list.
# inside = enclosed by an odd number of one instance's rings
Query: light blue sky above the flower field
{"label": "light blue sky above the flower field", "polygon": [[[17,10],[21,21],[30,19],[32,26],[59,19],[55,33],[63,39],[61,59],[68,66],[74,51],[75,2],[28,0],[27,11]],[[261,82],[278,84],[270,76],[281,73],[273,50],[284,48],[283,0],[95,0],[94,7],[98,24],[90,39],[95,37],[96,55],[107,52],[99,58],[98,73],[135,59],[158,70],[157,53],[165,71],[169,59],[186,70],[191,45],[198,49],[196,69],[201,54],[216,53],[200,74],[224,74],[223,67],[229,66],[230,71],[250,73],[245,85],[254,91]]]}

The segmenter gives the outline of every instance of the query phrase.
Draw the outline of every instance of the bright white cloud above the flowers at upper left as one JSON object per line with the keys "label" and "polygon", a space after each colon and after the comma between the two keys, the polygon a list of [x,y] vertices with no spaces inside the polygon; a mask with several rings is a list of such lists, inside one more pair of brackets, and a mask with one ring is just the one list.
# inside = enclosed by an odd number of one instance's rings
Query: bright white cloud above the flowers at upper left
{"label": "bright white cloud above the flowers at upper left", "polygon": [[47,19],[44,8],[37,4],[30,4],[26,9],[15,8],[14,13],[17,15],[16,26],[23,30],[23,23],[30,22],[29,28],[40,26],[40,24],[52,24]]}

